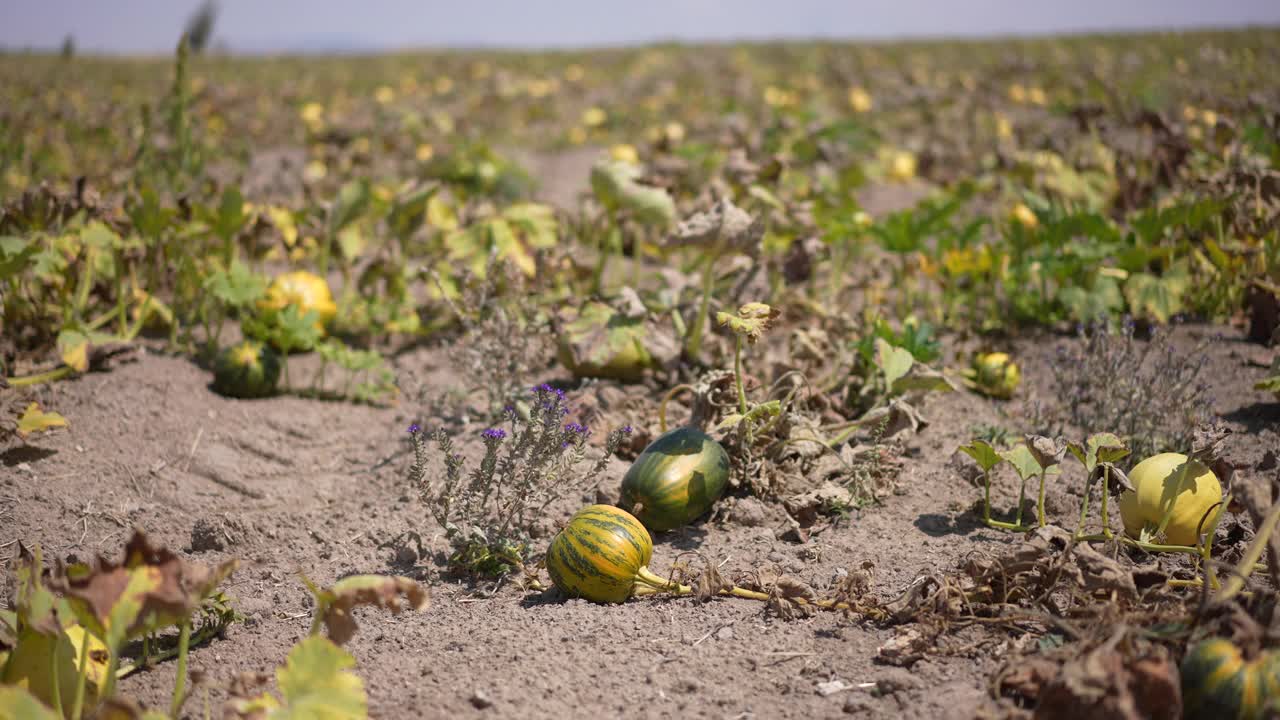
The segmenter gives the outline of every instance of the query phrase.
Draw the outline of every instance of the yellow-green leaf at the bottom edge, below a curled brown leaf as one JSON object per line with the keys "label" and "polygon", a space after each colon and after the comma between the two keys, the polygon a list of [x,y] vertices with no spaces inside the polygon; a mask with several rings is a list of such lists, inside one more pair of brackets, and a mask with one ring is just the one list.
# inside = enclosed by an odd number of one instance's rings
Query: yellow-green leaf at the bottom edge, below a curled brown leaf
{"label": "yellow-green leaf at the bottom edge, below a curled brown leaf", "polygon": [[275,680],[284,706],[268,714],[270,720],[361,719],[369,712],[369,698],[360,676],[349,673],[356,659],[320,635],[303,638],[293,646]]}

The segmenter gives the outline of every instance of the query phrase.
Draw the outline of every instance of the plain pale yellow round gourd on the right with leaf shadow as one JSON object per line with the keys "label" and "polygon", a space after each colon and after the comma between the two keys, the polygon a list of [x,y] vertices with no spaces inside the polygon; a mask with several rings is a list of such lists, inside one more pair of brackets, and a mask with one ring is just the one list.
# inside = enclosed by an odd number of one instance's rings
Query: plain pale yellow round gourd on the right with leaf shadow
{"label": "plain pale yellow round gourd on the right with leaf shadow", "polygon": [[[1165,542],[1194,546],[1197,528],[1213,505],[1222,501],[1222,484],[1204,464],[1178,452],[1153,455],[1129,471],[1133,491],[1120,496],[1124,530],[1133,538],[1148,537],[1172,507]],[[1207,520],[1206,520],[1207,523]],[[1158,538],[1153,538],[1158,539]]]}

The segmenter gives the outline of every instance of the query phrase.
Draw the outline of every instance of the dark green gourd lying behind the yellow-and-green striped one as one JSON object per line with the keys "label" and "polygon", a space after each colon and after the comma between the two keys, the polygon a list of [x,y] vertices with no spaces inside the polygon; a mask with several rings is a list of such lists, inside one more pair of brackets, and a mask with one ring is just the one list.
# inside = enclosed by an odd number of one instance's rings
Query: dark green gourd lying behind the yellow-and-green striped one
{"label": "dark green gourd lying behind the yellow-and-green striped one", "polygon": [[622,478],[622,507],[650,530],[671,530],[712,509],[728,484],[728,454],[698,428],[676,428],[644,448]]}

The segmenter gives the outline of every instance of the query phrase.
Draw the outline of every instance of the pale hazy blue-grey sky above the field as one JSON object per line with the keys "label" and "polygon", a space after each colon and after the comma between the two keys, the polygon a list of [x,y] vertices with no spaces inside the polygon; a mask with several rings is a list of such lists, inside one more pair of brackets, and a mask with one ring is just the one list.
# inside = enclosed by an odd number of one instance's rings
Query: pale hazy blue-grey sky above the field
{"label": "pale hazy blue-grey sky above the field", "polygon": [[[163,53],[198,0],[0,0],[0,47]],[[1276,0],[223,0],[234,51],[1280,26]]]}

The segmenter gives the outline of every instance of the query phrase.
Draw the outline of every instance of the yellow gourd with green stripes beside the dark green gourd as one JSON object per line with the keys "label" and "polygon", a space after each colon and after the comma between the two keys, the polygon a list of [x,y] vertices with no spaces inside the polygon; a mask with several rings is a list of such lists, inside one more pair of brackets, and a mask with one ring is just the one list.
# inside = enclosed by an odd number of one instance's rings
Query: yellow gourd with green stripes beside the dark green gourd
{"label": "yellow gourd with green stripes beside the dark green gourd", "polygon": [[653,539],[639,520],[612,505],[590,505],[552,538],[547,571],[567,596],[622,602],[637,578],[652,577],[650,559]]}

